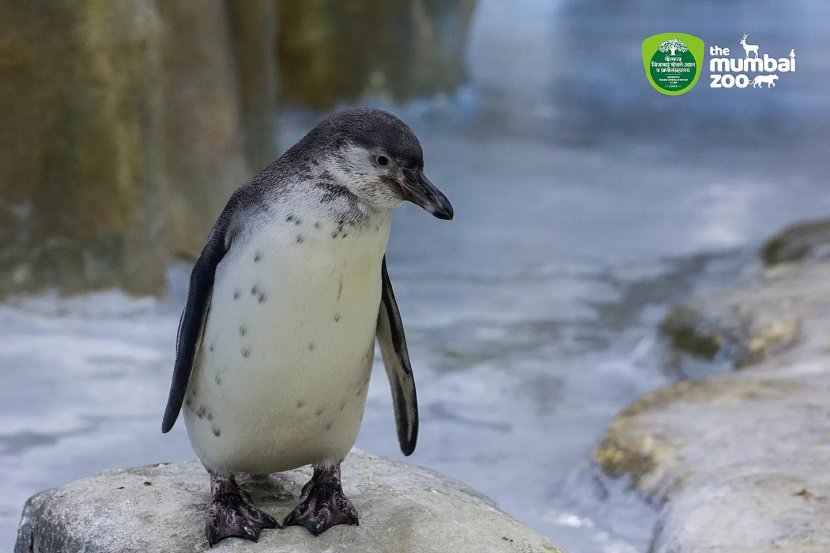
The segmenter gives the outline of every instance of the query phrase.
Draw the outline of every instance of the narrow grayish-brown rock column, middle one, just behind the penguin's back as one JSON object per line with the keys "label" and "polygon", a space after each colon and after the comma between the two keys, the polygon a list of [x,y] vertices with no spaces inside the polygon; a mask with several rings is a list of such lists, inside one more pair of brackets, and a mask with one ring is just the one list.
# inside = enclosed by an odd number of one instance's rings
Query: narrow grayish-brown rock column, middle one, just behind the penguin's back
{"label": "narrow grayish-brown rock column, middle one, just behind the penguin's back", "polygon": [[173,254],[198,256],[231,193],[277,157],[273,3],[157,3],[159,150]]}

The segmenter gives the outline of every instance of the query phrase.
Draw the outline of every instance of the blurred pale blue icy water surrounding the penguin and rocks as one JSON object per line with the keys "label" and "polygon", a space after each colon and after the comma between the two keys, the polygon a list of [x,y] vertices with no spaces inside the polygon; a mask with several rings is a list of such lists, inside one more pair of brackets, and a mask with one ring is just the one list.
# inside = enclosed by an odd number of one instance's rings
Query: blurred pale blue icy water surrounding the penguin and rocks
{"label": "blurred pale blue icy water surrounding the penguin and rocks", "polygon": [[[830,5],[484,0],[471,86],[395,108],[456,219],[395,214],[388,258],[421,401],[410,461],[574,553],[644,553],[654,513],[588,462],[608,421],[674,377],[655,326],[760,240],[827,215]],[[798,53],[772,90],[670,98],[645,36]],[[283,114],[282,144],[318,115]],[[0,304],[0,549],[25,499],[95,471],[192,457],[159,431],[186,269],[165,302],[108,292]],[[379,364],[360,447],[400,457]],[[345,475],[348,478],[348,474]],[[207,485],[207,483],[206,483]]]}

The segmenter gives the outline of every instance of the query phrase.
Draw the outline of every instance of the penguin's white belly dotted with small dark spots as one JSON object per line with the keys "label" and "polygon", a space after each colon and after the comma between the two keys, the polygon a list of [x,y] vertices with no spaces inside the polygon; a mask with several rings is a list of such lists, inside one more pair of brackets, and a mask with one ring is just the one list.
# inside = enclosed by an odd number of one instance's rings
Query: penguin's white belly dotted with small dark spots
{"label": "penguin's white belly dotted with small dark spots", "polygon": [[255,227],[217,268],[184,408],[212,470],[337,462],[357,437],[389,215],[342,231],[300,217]]}

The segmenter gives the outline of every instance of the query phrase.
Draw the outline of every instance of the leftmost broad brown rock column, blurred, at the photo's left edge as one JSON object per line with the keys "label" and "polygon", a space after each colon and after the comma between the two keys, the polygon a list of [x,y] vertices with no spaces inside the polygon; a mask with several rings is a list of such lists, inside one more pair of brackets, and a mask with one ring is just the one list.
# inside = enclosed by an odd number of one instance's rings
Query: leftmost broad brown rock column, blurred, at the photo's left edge
{"label": "leftmost broad brown rock column, blurred, at the photo's left edge", "polygon": [[0,3],[0,295],[162,291],[158,36],[149,2]]}

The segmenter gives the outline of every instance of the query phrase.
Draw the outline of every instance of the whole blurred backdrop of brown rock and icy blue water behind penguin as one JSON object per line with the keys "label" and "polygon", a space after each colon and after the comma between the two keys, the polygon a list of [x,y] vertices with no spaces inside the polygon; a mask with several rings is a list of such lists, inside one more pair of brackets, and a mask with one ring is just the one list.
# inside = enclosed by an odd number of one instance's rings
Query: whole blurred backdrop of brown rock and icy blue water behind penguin
{"label": "whole blurred backdrop of brown rock and icy blue water behind penguin", "polygon": [[[408,460],[570,551],[645,553],[651,507],[591,451],[682,376],[667,307],[830,212],[827,21],[819,0],[4,1],[0,544],[36,491],[193,457],[159,430],[190,263],[238,185],[363,104],[412,126],[456,209],[397,210],[387,253]],[[749,33],[798,70],[663,96],[640,43],[670,31]],[[400,457],[378,362],[358,446]]]}

